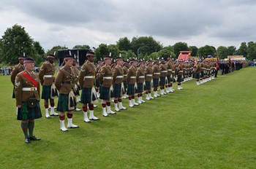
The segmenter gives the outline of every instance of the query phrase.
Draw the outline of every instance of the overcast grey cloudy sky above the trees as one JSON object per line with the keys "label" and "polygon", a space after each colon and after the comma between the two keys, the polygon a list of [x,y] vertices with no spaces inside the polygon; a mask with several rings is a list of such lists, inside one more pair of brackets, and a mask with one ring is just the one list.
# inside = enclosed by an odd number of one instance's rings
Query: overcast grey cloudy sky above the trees
{"label": "overcast grey cloudy sky above the trees", "polygon": [[1,0],[0,35],[17,23],[45,51],[116,44],[125,36],[238,48],[256,42],[255,15],[255,0]]}

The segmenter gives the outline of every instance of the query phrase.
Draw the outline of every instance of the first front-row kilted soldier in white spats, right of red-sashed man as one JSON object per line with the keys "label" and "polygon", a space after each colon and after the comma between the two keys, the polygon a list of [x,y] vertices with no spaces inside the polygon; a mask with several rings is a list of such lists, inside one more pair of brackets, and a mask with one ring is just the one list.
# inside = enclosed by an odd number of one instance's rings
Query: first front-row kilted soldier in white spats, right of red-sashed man
{"label": "first front-row kilted soldier in white spats, right of red-sashed man", "polygon": [[72,68],[73,57],[66,55],[64,58],[64,66],[59,69],[56,76],[56,88],[59,90],[59,101],[57,111],[60,111],[60,128],[61,131],[68,131],[65,127],[65,111],[67,111],[67,127],[78,128],[78,125],[72,123],[72,110],[75,109],[75,71]]}

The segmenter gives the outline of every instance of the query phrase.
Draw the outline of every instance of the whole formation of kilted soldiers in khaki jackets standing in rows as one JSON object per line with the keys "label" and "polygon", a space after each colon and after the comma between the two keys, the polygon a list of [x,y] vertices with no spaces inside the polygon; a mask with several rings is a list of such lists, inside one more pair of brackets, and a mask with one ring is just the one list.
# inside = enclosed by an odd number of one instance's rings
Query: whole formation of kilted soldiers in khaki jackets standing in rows
{"label": "whole formation of kilted soldiers in khaki jackets standing in rows", "polygon": [[[79,127],[73,124],[73,111],[82,110],[84,122],[98,121],[99,118],[94,116],[94,108],[99,100],[102,117],[109,117],[118,111],[127,110],[128,106],[133,108],[161,95],[173,93],[174,82],[177,82],[178,90],[183,90],[181,84],[193,77],[197,85],[208,82],[217,76],[219,68],[217,61],[173,61],[172,58],[123,60],[121,55],[115,59],[107,55],[95,66],[94,52],[87,52],[86,62],[80,70],[77,60],[67,55],[55,76],[55,59],[55,55],[48,55],[39,74],[36,74],[33,71],[34,60],[20,57],[18,66],[12,72],[17,119],[21,120],[26,144],[40,140],[33,135],[34,119],[42,117],[40,94],[44,100],[45,117],[59,117],[60,130],[65,132],[68,128]],[[42,93],[39,84],[42,84]],[[59,98],[57,107],[54,105],[56,98]],[[124,106],[122,99],[127,98],[129,104]],[[78,107],[78,102],[82,103],[82,107]]]}

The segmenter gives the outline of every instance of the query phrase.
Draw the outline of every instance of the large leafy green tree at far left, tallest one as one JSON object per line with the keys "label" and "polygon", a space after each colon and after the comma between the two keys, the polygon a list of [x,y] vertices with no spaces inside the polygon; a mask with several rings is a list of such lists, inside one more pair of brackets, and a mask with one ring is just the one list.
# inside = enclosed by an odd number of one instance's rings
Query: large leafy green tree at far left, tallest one
{"label": "large leafy green tree at far left, tallest one", "polygon": [[25,28],[15,24],[12,28],[7,28],[1,38],[1,60],[4,63],[15,65],[18,63],[18,57],[23,53],[29,57],[38,55],[33,39],[26,33]]}

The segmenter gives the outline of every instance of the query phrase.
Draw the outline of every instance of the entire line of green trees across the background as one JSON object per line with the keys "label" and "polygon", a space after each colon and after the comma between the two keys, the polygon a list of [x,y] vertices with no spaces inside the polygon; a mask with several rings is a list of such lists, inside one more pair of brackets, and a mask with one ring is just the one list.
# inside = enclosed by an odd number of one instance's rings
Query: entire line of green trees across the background
{"label": "entire line of green trees across the background", "polygon": [[[172,57],[178,58],[180,51],[192,51],[192,56],[207,58],[208,55],[218,57],[219,59],[227,58],[227,55],[244,55],[249,60],[256,59],[256,43],[241,42],[238,49],[234,46],[220,46],[217,49],[210,45],[204,47],[188,46],[186,42],[177,42],[176,44],[164,47],[157,42],[152,36],[135,36],[131,40],[127,37],[118,39],[116,44],[99,44],[98,47],[90,47],[88,44],[78,44],[72,49],[94,50],[96,60],[100,60],[110,52],[113,58],[121,56],[126,60],[128,58],[152,59]],[[57,50],[67,50],[68,47],[56,45],[45,52],[41,44],[29,36],[25,28],[15,24],[7,28],[0,39],[0,60],[2,63],[15,65],[19,55],[33,56],[37,64],[42,63],[46,55],[54,53]]]}

